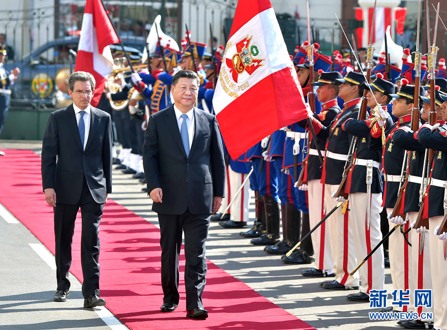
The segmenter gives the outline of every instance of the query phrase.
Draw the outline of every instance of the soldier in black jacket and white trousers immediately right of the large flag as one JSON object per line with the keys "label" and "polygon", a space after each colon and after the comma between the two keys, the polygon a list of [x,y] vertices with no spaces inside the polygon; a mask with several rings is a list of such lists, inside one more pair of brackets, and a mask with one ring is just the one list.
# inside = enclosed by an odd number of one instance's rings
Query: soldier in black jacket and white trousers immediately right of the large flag
{"label": "soldier in black jacket and white trousers immediately right of the large flag", "polygon": [[[323,72],[321,69],[318,70],[318,74],[320,75],[318,81],[312,82],[312,85],[318,86],[316,94],[318,100],[322,102],[322,110],[319,114],[313,115],[313,118],[320,121],[323,126],[329,126],[341,111],[337,101],[340,83],[336,79],[341,79],[343,76],[338,71]],[[305,127],[307,121],[304,120],[299,125]],[[324,157],[326,141],[317,139],[317,142],[322,152],[322,157]],[[309,136],[309,146],[309,151],[302,168],[302,171],[304,171],[303,184],[298,187],[298,190],[307,190],[309,223],[310,228],[313,228],[324,217],[326,206],[324,202],[324,184],[320,182],[321,164],[318,150],[312,141],[312,136]],[[315,267],[303,270],[301,274],[310,277],[335,277],[328,223],[323,222],[311,234],[311,238],[315,254]]]}

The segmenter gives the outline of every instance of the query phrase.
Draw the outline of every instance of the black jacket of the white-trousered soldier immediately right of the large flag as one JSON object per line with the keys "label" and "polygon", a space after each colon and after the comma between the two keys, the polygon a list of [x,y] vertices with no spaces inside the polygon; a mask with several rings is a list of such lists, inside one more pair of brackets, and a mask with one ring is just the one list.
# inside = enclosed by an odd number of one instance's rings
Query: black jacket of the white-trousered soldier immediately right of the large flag
{"label": "black jacket of the white-trousered soldier immediately right of the large flag", "polygon": [[[334,99],[326,103],[323,103],[322,111],[317,115],[313,115],[313,118],[318,120],[323,126],[329,126],[334,120],[334,118],[340,113],[340,111],[341,109],[338,106],[338,101],[337,99]],[[308,127],[307,120],[302,120],[298,124],[301,127]],[[322,173],[321,163],[318,156],[318,150],[315,148],[312,138],[313,138],[312,135],[309,134],[309,144],[311,151],[309,151],[309,153],[307,154],[307,158],[304,161],[303,166],[304,181],[321,179],[321,173]],[[321,152],[324,152],[326,141],[319,139],[318,137],[317,141]],[[324,159],[324,153],[322,156]]]}

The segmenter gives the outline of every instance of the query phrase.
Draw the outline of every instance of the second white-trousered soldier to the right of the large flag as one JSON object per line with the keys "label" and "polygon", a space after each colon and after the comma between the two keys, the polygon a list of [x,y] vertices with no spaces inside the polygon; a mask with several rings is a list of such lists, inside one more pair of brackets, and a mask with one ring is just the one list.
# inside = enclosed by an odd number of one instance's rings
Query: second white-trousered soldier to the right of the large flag
{"label": "second white-trousered soldier to the right of the large flag", "polygon": [[[328,126],[312,120],[312,125],[318,139],[325,141],[325,158],[321,183],[324,184],[326,210],[332,210],[337,201],[335,195],[342,181],[343,172],[347,165],[348,153],[353,135],[342,129],[342,125],[350,118],[357,119],[362,100],[363,88],[360,86],[365,77],[358,72],[350,71],[341,83],[339,97],[345,101],[344,109]],[[312,116],[310,116],[312,118]],[[328,172],[329,171],[329,172]],[[362,179],[365,181],[365,179]],[[359,289],[359,275],[350,275],[350,270],[356,266],[356,252],[353,239],[353,227],[349,220],[349,201],[345,201],[343,208],[339,207],[329,219],[332,257],[334,261],[335,280],[323,281],[320,286],[334,290]]]}

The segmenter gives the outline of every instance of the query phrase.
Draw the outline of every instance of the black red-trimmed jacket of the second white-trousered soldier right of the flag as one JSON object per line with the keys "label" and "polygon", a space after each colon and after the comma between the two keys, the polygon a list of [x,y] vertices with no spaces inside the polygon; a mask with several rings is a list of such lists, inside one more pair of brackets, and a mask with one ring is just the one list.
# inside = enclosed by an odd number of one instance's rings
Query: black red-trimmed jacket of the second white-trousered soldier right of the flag
{"label": "black red-trimmed jacket of the second white-trousered soldier right of the flag", "polygon": [[[361,99],[358,98],[345,103],[345,109],[328,126],[323,126],[319,121],[312,122],[317,138],[326,142],[321,183],[339,185],[342,180],[349,147],[353,139],[352,134],[342,130],[342,125],[350,118],[357,119],[360,101]],[[334,153],[339,159],[332,158],[330,153]],[[330,175],[326,176],[326,170],[330,171]]]}

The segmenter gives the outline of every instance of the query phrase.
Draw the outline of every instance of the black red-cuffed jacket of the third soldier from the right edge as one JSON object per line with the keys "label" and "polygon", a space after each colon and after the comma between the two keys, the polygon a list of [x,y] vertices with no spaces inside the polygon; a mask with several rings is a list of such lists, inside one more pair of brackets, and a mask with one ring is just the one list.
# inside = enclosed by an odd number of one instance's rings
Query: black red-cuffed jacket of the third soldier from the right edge
{"label": "black red-cuffed jacket of the third soldier from the right edge", "polygon": [[[398,118],[397,122],[389,126],[385,125],[385,146],[382,147],[382,134],[377,122],[371,129],[370,148],[382,150],[382,169],[385,176],[385,188],[383,191],[382,206],[393,208],[397,202],[397,193],[399,190],[399,180],[402,171],[402,163],[404,159],[405,149],[394,145],[394,132],[401,126],[410,127],[411,115]],[[388,178],[393,178],[388,180]]]}

